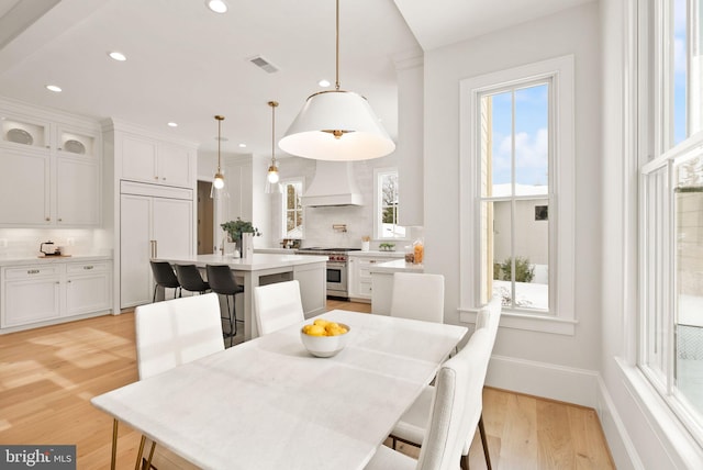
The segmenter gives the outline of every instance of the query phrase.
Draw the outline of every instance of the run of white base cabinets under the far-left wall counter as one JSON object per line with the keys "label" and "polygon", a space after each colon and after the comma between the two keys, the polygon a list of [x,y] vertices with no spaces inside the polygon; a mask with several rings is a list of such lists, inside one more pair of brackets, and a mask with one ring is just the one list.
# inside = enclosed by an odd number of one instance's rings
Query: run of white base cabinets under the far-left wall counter
{"label": "run of white base cabinets under the far-left wall counter", "polygon": [[109,260],[7,266],[0,279],[0,327],[3,329],[107,313],[112,304]]}

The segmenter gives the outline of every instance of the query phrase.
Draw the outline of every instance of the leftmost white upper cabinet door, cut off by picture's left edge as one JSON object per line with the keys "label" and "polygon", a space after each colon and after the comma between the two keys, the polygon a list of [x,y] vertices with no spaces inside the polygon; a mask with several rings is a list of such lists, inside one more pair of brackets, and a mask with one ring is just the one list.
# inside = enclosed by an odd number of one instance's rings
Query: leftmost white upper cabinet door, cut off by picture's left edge
{"label": "leftmost white upper cabinet door, cut off by picture's left edge", "polygon": [[0,148],[0,224],[48,225],[48,154]]}

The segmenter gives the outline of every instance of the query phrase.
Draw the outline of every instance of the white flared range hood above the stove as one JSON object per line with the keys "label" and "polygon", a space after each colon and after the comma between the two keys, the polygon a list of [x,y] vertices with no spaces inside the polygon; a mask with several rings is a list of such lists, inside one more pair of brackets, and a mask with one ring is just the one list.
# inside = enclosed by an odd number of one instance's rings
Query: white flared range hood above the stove
{"label": "white flared range hood above the stove", "polygon": [[319,208],[364,204],[364,198],[354,179],[352,161],[317,160],[316,165],[312,184],[302,197],[303,205]]}

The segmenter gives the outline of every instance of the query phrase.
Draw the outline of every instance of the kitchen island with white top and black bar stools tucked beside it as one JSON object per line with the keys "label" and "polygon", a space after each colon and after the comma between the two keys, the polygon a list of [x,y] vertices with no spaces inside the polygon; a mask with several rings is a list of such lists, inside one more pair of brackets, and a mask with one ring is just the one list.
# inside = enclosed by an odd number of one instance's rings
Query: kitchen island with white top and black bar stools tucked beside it
{"label": "kitchen island with white top and black bar stools tucked beside it", "polygon": [[326,256],[274,255],[255,253],[250,258],[233,258],[222,255],[198,255],[186,258],[161,258],[171,265],[196,265],[203,271],[207,265],[227,265],[234,271],[237,282],[244,286],[244,339],[258,336],[254,321],[254,288],[274,282],[298,280],[305,317],[325,312],[326,302]]}

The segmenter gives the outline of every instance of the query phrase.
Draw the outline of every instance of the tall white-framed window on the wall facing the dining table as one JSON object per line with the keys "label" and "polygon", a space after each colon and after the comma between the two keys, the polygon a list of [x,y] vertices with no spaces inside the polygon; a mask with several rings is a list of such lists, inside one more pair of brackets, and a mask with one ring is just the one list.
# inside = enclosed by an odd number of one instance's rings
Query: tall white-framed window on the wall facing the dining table
{"label": "tall white-framed window on the wall facing the dining table", "polygon": [[462,321],[573,334],[572,123],[571,56],[461,82]]}

